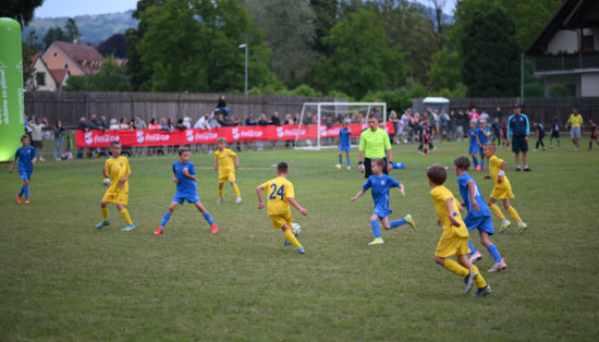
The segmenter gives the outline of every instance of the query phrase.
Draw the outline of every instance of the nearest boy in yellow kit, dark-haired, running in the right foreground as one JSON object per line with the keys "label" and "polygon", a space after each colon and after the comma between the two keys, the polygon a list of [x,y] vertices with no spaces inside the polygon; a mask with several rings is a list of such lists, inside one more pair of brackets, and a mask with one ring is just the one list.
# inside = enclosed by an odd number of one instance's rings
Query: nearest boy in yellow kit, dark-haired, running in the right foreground
{"label": "nearest boy in yellow kit, dark-haired, running in the right foreground", "polygon": [[[475,297],[491,294],[491,286],[487,284],[478,268],[468,259],[468,230],[460,216],[462,209],[460,203],[443,185],[448,178],[445,169],[433,164],[428,169],[427,176],[428,184],[432,187],[430,197],[432,197],[435,211],[439,217],[438,223],[443,227],[443,234],[439,239],[435,252],[435,262],[463,277],[466,283],[464,292],[469,292],[473,283],[476,283],[478,291],[474,294]],[[449,259],[448,257],[451,255],[455,255],[460,264]]]}

